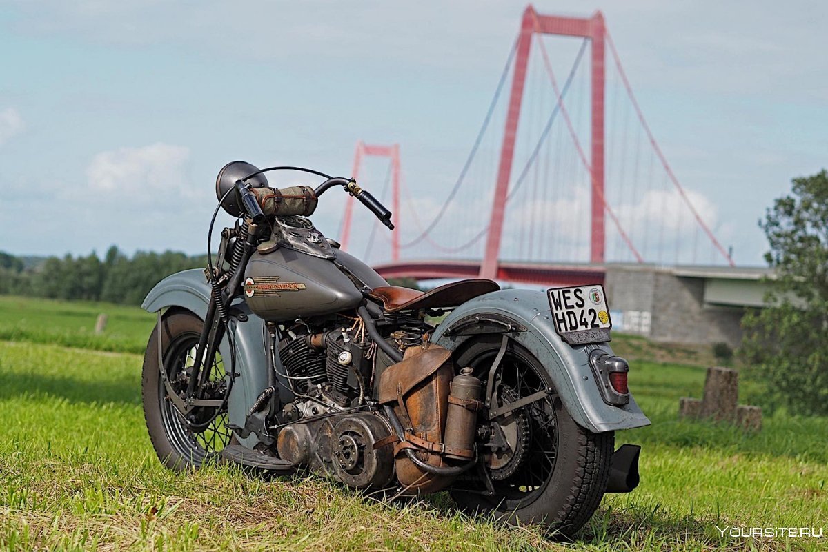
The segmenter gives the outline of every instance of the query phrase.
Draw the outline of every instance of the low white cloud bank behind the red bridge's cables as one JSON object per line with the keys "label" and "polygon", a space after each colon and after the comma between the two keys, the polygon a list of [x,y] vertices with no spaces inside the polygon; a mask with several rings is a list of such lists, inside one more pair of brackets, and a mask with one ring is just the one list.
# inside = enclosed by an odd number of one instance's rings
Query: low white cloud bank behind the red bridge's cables
{"label": "low white cloud bank behind the red bridge's cables", "polygon": [[[500,256],[503,259],[536,262],[587,262],[590,254],[589,183],[571,180],[559,183],[558,190],[569,190],[558,197],[529,199],[528,194],[517,194],[508,203],[501,235]],[[705,225],[726,249],[734,239],[734,225],[720,220],[719,209],[705,194],[685,190],[687,199]],[[430,237],[442,247],[459,247],[469,242],[489,223],[493,190],[464,190],[449,204],[440,223]],[[442,208],[444,197],[423,195],[410,199],[403,194],[401,213],[394,221],[400,225],[403,244],[421,233]],[[628,198],[610,205],[621,228],[645,262],[689,263],[724,262],[720,252],[700,228],[686,200],[673,188],[647,190],[636,198]],[[417,225],[412,217],[416,212]],[[337,220],[339,214],[337,213]],[[373,217],[363,215],[359,204],[354,205],[354,230],[351,249],[363,254],[364,241],[373,224]],[[619,229],[605,216],[605,254],[609,262],[635,262],[632,252],[620,237]],[[378,233],[385,234],[380,228]],[[390,248],[387,240],[375,238],[376,251],[370,255],[373,262],[388,261]],[[479,258],[483,254],[485,236],[460,251],[445,252],[440,247],[422,241],[416,247],[407,247],[405,258]]]}

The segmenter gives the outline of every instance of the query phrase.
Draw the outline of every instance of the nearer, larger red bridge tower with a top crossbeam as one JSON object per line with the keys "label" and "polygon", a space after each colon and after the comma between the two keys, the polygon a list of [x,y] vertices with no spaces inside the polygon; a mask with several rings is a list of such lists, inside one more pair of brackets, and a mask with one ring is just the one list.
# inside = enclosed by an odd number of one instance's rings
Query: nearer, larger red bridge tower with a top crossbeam
{"label": "nearer, larger red bridge tower with a top crossbeam", "polygon": [[[591,41],[590,94],[592,119],[590,122],[591,149],[591,216],[590,262],[604,263],[604,15],[595,12],[590,18],[543,16],[535,12],[530,4],[523,12],[520,35],[517,38],[517,55],[512,77],[512,90],[503,131],[503,146],[500,151],[497,182],[494,189],[489,234],[483,263],[480,265],[481,278],[495,279],[498,276],[498,255],[500,238],[503,234],[503,217],[506,210],[509,178],[517,138],[517,122],[526,83],[529,51],[535,34],[580,36]],[[562,100],[559,100],[562,101]]]}

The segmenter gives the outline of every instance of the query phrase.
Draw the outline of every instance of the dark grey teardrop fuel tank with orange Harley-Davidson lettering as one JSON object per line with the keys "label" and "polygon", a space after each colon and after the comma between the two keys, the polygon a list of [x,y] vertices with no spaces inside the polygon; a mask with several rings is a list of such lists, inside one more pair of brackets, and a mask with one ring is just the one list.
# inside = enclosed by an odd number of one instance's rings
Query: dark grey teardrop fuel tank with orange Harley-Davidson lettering
{"label": "dark grey teardrop fuel tank with orange Harley-Davidson lettering", "polygon": [[243,290],[250,310],[273,322],[355,309],[363,298],[332,260],[287,247],[253,253]]}

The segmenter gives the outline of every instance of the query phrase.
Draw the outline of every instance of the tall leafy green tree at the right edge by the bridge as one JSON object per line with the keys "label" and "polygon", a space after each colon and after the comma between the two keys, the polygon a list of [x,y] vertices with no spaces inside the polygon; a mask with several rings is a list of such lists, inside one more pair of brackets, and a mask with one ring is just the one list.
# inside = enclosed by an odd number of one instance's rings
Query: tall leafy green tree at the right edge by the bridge
{"label": "tall leafy green tree at the right edge by the bridge", "polygon": [[828,171],[793,180],[759,223],[768,237],[768,308],[742,320],[745,374],[763,402],[828,415]]}

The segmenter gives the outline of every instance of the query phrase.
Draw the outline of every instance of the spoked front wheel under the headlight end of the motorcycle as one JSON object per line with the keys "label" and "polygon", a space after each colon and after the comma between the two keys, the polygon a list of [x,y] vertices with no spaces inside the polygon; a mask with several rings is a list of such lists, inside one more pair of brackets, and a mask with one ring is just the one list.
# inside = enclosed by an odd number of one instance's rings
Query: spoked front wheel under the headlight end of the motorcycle
{"label": "spoked front wheel under the headlight end of the motorcycle", "polygon": [[[142,372],[142,399],[152,446],[167,468],[198,468],[230,443],[227,406],[198,407],[182,415],[167,396],[160,370],[166,372],[173,390],[184,396],[195,361],[195,348],[204,322],[189,312],[174,312],[161,318],[163,367],[158,365],[158,328],[147,343]],[[209,378],[204,397],[222,399],[227,373],[219,353],[205,360]],[[206,368],[202,368],[204,370]]]}

